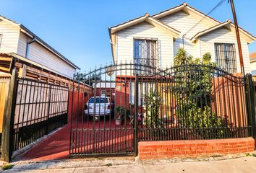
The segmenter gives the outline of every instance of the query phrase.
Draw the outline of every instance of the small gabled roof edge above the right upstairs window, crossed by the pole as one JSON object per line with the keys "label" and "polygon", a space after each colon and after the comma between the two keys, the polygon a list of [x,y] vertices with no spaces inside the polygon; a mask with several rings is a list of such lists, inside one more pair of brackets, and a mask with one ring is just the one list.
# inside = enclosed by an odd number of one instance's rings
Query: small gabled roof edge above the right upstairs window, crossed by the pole
{"label": "small gabled roof edge above the right upstairs window, crossed by the pole", "polygon": [[[215,25],[213,27],[209,27],[208,29],[206,30],[202,30],[201,32],[197,32],[196,35],[194,35],[190,40],[192,42],[195,42],[197,40],[198,37],[202,36],[202,35],[205,35],[209,32],[212,32],[214,30],[217,30],[218,28],[221,28],[221,27],[226,27],[228,30],[231,30],[233,32],[235,32],[235,26],[234,24],[231,22],[231,20],[227,20],[226,22],[223,22],[223,23],[220,23],[218,25]],[[244,34],[247,38],[247,43],[252,43],[253,41],[256,40],[256,37],[251,35],[249,32],[243,30],[241,27],[239,27],[239,31]]]}

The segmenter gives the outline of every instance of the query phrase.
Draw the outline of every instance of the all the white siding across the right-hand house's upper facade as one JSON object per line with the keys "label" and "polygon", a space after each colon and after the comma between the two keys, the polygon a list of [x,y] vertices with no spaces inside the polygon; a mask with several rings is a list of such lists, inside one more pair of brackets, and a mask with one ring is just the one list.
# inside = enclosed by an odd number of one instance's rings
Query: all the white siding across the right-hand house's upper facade
{"label": "all the white siding across the right-hand house's upper facade", "polygon": [[[191,43],[191,38],[209,27],[217,25],[215,22],[210,22],[208,19],[203,19],[196,27],[190,30],[202,17],[187,14],[186,12],[176,12],[167,17],[159,19],[166,25],[174,27],[181,33],[179,37],[173,41],[171,35],[166,34],[162,30],[144,22],[125,30],[117,32],[116,41],[116,61],[132,61],[133,60],[133,38],[134,37],[153,37],[160,40],[160,64],[161,67],[171,66],[174,63],[174,56],[178,48],[183,47],[182,36],[184,34],[184,49],[187,53],[195,58],[202,58],[203,54],[210,52],[212,61],[216,61],[214,43],[234,43],[236,45],[236,35],[234,32],[225,29],[224,27],[210,32],[208,35],[203,35],[197,43]],[[242,51],[244,56],[244,69],[246,73],[250,72],[249,67],[249,50],[246,41],[242,40]],[[240,72],[239,53],[236,45],[236,64],[237,72]]]}

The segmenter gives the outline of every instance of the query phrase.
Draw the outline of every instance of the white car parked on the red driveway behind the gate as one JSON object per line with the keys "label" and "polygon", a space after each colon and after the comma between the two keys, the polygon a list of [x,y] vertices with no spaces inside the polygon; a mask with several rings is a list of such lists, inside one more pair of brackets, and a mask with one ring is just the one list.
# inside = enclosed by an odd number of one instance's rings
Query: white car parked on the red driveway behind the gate
{"label": "white car parked on the red driveway behind the gate", "polygon": [[85,115],[95,115],[95,117],[111,115],[113,105],[110,97],[90,97],[85,105]]}

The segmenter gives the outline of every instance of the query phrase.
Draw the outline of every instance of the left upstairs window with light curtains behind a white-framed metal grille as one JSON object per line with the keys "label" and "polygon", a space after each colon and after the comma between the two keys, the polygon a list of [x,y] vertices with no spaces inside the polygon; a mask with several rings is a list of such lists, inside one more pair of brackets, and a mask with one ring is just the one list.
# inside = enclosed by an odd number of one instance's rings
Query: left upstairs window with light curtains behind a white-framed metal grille
{"label": "left upstairs window with light curtains behind a white-framed metal grille", "polygon": [[158,59],[157,40],[135,39],[134,60],[136,64],[156,66]]}

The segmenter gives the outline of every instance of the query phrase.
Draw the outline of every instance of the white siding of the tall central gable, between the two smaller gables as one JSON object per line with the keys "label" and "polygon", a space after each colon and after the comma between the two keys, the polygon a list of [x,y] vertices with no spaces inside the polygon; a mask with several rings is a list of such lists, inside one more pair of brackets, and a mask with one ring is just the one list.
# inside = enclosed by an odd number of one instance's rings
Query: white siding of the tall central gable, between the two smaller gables
{"label": "white siding of the tall central gable, between the two smaller gables", "polygon": [[[202,22],[198,23],[202,18],[193,17],[185,12],[176,12],[174,14],[170,14],[167,17],[163,17],[159,19],[166,25],[174,27],[176,30],[179,30],[181,34],[179,38],[174,42],[174,56],[176,51],[181,47],[183,47],[182,36],[184,34],[184,49],[189,53],[189,55],[197,57],[198,56],[198,45],[191,43],[190,39],[202,30],[206,30],[209,27],[213,27],[212,23],[205,22],[206,19],[202,20]],[[194,27],[196,25],[196,27]],[[194,27],[192,30],[191,28]]]}

